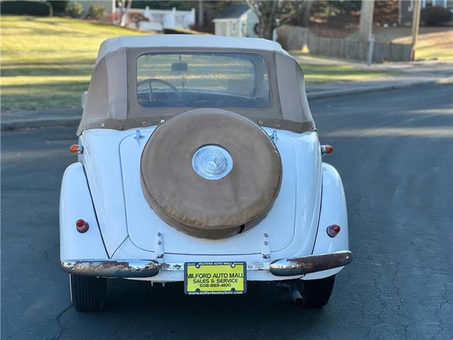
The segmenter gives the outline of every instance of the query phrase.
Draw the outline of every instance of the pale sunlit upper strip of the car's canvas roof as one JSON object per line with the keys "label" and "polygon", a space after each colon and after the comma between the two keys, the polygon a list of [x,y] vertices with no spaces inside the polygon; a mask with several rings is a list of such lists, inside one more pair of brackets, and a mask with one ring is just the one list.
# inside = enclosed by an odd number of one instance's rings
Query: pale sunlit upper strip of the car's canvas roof
{"label": "pale sunlit upper strip of the car's canvas roof", "polygon": [[269,50],[288,55],[278,42],[260,38],[236,38],[219,35],[190,34],[123,35],[105,40],[101,44],[97,62],[109,52],[124,47],[149,47],[150,49],[159,47],[246,48],[251,50]]}

